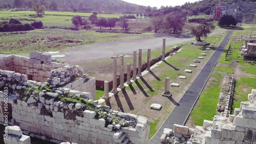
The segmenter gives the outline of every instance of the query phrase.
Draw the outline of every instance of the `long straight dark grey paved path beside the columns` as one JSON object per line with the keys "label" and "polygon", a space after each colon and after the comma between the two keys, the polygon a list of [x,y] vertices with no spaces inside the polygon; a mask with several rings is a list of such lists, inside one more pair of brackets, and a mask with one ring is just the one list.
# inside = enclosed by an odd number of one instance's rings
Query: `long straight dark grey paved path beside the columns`
{"label": "long straight dark grey paved path beside the columns", "polygon": [[205,66],[200,71],[197,78],[193,81],[193,83],[188,87],[178,104],[175,106],[173,111],[168,115],[165,119],[165,122],[161,126],[160,130],[150,139],[148,143],[150,144],[159,144],[160,137],[163,134],[164,128],[173,129],[174,124],[184,125],[186,119],[194,107],[205,83],[207,82],[211,71],[214,69],[215,65],[217,64],[220,55],[222,54],[227,41],[231,35],[232,31],[228,31],[225,38],[222,40],[221,44],[217,47],[216,51]]}

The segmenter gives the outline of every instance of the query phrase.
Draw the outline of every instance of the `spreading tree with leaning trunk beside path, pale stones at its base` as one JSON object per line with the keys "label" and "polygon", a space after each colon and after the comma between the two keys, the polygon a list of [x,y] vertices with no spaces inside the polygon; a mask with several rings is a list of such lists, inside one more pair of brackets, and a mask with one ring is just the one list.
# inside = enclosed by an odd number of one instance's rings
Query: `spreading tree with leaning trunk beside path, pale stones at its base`
{"label": "spreading tree with leaning trunk beside path, pale stones at its base", "polygon": [[211,33],[215,29],[215,26],[211,22],[204,21],[198,26],[191,28],[191,34],[196,36],[197,41],[201,41],[201,37],[207,37],[207,34]]}

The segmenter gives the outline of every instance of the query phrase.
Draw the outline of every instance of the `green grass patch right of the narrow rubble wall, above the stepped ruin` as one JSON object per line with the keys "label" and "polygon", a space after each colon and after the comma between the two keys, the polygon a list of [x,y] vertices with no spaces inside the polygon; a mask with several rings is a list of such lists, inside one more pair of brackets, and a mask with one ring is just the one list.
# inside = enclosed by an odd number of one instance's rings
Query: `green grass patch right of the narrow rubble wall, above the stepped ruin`
{"label": "green grass patch right of the narrow rubble wall, above the stepped ruin", "polygon": [[[241,102],[248,101],[248,93],[251,93],[251,89],[256,88],[256,77],[248,78],[242,77],[236,81],[236,87],[234,91],[234,99],[232,108],[240,108]],[[232,111],[233,114],[233,111]]]}

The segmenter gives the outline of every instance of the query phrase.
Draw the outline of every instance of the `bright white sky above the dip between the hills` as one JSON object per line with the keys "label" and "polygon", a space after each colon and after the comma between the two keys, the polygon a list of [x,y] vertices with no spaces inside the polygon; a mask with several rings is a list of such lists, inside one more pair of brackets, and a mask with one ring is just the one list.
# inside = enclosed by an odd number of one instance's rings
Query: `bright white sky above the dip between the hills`
{"label": "bright white sky above the dip between the hills", "polygon": [[199,0],[122,0],[128,3],[133,3],[137,5],[143,5],[143,6],[151,6],[151,7],[157,7],[158,9],[161,6],[179,6],[183,5],[186,2],[194,3]]}

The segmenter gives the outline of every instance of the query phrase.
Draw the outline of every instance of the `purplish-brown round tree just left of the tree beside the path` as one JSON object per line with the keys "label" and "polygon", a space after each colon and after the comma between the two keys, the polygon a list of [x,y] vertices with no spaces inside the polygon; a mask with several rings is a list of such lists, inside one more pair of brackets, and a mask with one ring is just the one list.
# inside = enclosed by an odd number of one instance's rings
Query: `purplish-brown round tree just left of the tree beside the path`
{"label": "purplish-brown round tree just left of the tree beside the path", "polygon": [[165,15],[164,22],[166,29],[173,29],[173,33],[182,31],[182,27],[185,25],[186,15],[179,12],[171,12]]}

